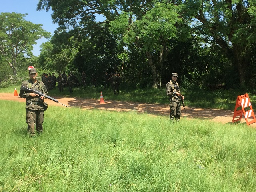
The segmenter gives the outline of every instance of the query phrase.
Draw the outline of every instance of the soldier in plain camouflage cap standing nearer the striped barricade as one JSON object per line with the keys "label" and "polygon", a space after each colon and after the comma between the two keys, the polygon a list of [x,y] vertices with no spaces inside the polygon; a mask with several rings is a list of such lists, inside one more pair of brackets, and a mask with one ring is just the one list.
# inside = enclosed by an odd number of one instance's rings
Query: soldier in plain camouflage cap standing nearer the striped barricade
{"label": "soldier in plain camouflage cap standing nearer the striped barricade", "polygon": [[166,84],[166,94],[170,99],[170,120],[179,121],[181,114],[181,100],[184,96],[180,93],[180,87],[176,81],[178,78],[177,73],[172,73],[172,80]]}

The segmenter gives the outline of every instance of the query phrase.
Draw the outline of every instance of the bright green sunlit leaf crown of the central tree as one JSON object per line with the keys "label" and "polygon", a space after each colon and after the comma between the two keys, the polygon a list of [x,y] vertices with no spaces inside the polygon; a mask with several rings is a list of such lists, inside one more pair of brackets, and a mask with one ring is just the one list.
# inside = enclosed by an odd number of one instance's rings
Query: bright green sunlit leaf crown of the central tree
{"label": "bright green sunlit leaf crown of the central tree", "polygon": [[158,2],[140,18],[136,17],[139,13],[123,11],[110,22],[110,30],[122,34],[126,44],[136,42],[144,50],[158,50],[162,41],[176,37],[176,25],[182,22],[177,9],[178,6]]}

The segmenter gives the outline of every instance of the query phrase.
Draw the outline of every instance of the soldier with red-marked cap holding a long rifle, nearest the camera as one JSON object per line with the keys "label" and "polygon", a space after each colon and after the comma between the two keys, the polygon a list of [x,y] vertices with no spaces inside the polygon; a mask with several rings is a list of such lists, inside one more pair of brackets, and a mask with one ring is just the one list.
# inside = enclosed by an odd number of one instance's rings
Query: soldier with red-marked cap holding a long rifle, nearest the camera
{"label": "soldier with red-marked cap holding a long rifle, nearest the camera", "polygon": [[[37,72],[35,68],[29,70],[30,79],[22,82],[22,86],[40,91],[48,95],[46,86],[43,82],[36,80]],[[39,96],[35,93],[29,93],[24,91],[23,87],[20,87],[20,97],[26,98],[26,123],[28,124],[28,133],[30,136],[35,135],[35,128],[38,133],[43,132],[43,122],[44,122],[44,108],[43,102],[44,97]]]}

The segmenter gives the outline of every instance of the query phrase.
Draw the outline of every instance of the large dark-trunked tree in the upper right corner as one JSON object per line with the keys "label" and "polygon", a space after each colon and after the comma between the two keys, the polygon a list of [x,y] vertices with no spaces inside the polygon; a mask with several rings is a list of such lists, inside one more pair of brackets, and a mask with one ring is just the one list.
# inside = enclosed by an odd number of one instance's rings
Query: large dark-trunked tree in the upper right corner
{"label": "large dark-trunked tree in the upper right corner", "polygon": [[194,27],[214,40],[236,66],[240,87],[250,79],[249,67],[256,42],[255,0],[198,0],[184,3],[184,15],[196,18]]}

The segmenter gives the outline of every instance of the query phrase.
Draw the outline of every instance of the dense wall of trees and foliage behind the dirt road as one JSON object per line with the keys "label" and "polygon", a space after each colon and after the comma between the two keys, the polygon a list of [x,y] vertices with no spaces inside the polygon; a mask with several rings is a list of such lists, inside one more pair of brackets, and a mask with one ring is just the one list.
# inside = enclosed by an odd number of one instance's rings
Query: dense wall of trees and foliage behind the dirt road
{"label": "dense wall of trees and foliage behind the dirt road", "polygon": [[256,86],[254,0],[39,1],[50,8],[60,27],[42,68],[118,71],[134,87],[165,86],[172,72],[202,88]]}

